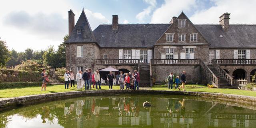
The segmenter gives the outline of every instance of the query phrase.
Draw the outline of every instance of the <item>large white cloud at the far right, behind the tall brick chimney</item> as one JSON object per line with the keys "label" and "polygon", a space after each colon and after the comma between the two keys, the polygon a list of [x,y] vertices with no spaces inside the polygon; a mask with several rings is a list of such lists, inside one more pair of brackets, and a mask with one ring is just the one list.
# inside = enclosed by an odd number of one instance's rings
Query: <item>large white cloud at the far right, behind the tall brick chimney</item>
{"label": "large white cloud at the far right, behind the tall brick chimney", "polygon": [[218,23],[223,13],[230,14],[230,23],[256,23],[256,0],[212,0],[214,6],[206,10],[198,10],[190,20],[193,23]]}

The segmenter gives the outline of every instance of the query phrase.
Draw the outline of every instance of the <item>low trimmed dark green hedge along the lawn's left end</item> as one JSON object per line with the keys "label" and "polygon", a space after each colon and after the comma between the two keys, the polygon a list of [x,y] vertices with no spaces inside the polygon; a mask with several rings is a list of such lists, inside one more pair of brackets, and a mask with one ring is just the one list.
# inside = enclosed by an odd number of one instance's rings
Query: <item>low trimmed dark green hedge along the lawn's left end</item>
{"label": "low trimmed dark green hedge along the lawn's left end", "polygon": [[41,86],[42,86],[42,82],[5,82],[5,83],[0,83],[0,89],[41,87]]}

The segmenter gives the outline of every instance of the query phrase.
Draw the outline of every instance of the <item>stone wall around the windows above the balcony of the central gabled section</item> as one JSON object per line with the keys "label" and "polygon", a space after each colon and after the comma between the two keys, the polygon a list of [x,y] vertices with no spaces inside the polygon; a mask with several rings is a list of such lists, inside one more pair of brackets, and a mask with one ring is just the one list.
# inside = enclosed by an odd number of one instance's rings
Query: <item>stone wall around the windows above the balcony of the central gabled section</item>
{"label": "stone wall around the windows above the balcony of the central gabled section", "polygon": [[[167,46],[167,45],[166,45]],[[154,59],[161,59],[161,54],[165,53],[165,47],[162,45],[158,45],[154,47]],[[178,58],[180,59],[180,53],[185,53],[185,48],[183,46],[170,46],[170,47],[176,47],[174,48],[174,54],[178,53]],[[208,52],[209,47],[208,45],[198,45],[196,48],[194,48],[194,59],[200,59],[204,62],[208,62]]]}

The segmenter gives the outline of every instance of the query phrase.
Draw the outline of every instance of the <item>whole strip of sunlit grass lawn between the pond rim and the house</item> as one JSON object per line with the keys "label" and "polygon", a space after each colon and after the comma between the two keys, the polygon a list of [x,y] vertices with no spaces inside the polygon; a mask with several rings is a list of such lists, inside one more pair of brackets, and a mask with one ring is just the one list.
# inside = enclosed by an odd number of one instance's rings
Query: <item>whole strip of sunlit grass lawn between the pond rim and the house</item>
{"label": "whole strip of sunlit grass lawn between the pond rim and the house", "polygon": [[[108,86],[101,86],[102,90],[108,90]],[[113,86],[114,90],[120,89],[120,86]],[[146,90],[170,90],[170,91],[178,91],[178,89],[168,89],[167,86],[156,85],[153,87],[144,87],[140,89]],[[237,90],[237,89],[223,89],[223,88],[207,88],[203,85],[185,85],[186,91],[192,92],[213,92],[213,93],[223,93],[223,94],[236,94],[236,95],[244,95],[244,96],[256,96],[256,92],[247,91],[247,90]],[[47,86],[46,91],[41,91],[41,87],[26,87],[26,88],[10,88],[10,89],[2,89],[0,90],[0,98],[12,98],[19,96],[28,96],[35,94],[46,94],[46,93],[54,93],[54,92],[71,92],[71,91],[83,91],[77,90],[76,88],[65,89],[64,85],[52,85]],[[96,90],[96,88],[92,88],[92,90]],[[182,90],[182,89],[181,89]]]}

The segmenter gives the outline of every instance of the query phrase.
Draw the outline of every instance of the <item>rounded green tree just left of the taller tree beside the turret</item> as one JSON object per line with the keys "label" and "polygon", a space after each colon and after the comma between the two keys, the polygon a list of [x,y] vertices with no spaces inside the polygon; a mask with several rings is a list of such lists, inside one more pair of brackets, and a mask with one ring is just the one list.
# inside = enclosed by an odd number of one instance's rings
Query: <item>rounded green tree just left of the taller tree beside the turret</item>
{"label": "rounded green tree just left of the taller tree beside the turret", "polygon": [[44,52],[43,60],[45,66],[51,66],[56,68],[55,64],[56,62],[58,62],[58,60],[56,60],[55,51],[52,45],[49,46],[47,50]]}

